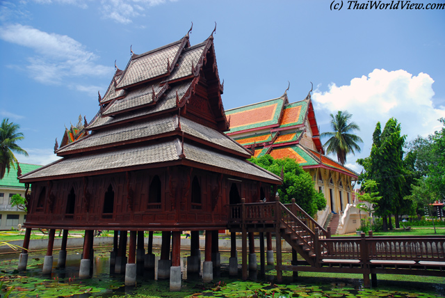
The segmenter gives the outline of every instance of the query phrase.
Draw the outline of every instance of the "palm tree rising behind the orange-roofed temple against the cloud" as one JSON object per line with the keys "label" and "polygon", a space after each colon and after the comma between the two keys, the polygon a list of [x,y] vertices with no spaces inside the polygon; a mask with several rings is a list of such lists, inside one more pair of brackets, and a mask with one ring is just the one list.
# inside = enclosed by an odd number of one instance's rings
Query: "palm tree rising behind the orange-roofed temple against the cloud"
{"label": "palm tree rising behind the orange-roofed temple against the cloud", "polygon": [[334,132],[323,132],[321,136],[330,136],[324,147],[326,148],[326,153],[337,153],[337,159],[340,164],[345,164],[346,155],[348,153],[355,154],[354,150],[360,152],[360,147],[357,142],[362,142],[362,139],[355,134],[351,134],[354,130],[360,130],[360,127],[351,122],[350,118],[353,115],[348,113],[348,111],[339,111],[337,115],[331,114],[331,127]]}

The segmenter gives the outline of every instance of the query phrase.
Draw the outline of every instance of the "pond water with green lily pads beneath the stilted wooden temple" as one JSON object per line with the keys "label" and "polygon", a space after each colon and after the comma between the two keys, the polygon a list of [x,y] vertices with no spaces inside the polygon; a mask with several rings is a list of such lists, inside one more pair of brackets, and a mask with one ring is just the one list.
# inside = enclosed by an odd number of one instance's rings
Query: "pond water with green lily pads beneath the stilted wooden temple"
{"label": "pond water with green lily pads beneath the stilted wooden temple", "polygon": [[[159,252],[154,252],[158,254]],[[181,253],[181,265],[186,262],[188,251]],[[187,276],[182,266],[181,292],[170,292],[168,281],[157,281],[155,272],[138,268],[136,287],[124,286],[124,275],[113,274],[109,266],[109,252],[95,251],[94,270],[91,279],[79,280],[80,251],[68,251],[65,269],[56,268],[58,252],[54,252],[54,267],[51,276],[42,275],[44,255],[30,253],[26,273],[17,272],[18,254],[0,256],[1,297],[445,297],[445,278],[428,276],[394,276],[398,280],[382,280],[378,275],[378,287],[366,289],[358,275],[316,277],[316,274],[300,273],[298,279],[292,272],[284,272],[283,283],[277,284],[273,266],[266,267],[266,276],[250,272],[249,281],[229,278],[229,253],[221,253],[221,269],[213,273],[213,283],[203,284],[196,274]],[[204,256],[202,256],[203,258]],[[238,260],[241,256],[238,256]],[[284,254],[284,263],[290,263],[291,254]],[[257,258],[259,260],[259,257]],[[259,266],[258,266],[259,269]],[[241,270],[240,270],[241,273]],[[404,280],[400,280],[404,279]],[[427,282],[427,281],[434,282]]]}

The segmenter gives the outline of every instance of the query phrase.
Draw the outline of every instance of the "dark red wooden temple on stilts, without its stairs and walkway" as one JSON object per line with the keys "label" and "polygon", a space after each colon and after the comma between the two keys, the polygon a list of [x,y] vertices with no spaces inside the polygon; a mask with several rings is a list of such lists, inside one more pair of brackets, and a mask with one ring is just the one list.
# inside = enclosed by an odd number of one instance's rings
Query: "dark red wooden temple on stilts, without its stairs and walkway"
{"label": "dark red wooden temple on stilts, without its stairs and walkway", "polygon": [[88,277],[93,231],[113,230],[113,270],[125,272],[125,283],[134,285],[136,261],[154,264],[153,231],[162,231],[158,278],[170,277],[170,289],[180,290],[181,231],[191,230],[190,272],[200,272],[199,232],[206,231],[203,280],[209,282],[212,261],[219,262],[218,230],[227,229],[231,216],[227,206],[241,198],[275,200],[270,189],[281,178],[248,162],[250,151],[224,133],[229,123],[213,33],[193,46],[187,33],[169,45],[131,53],[127,67],[116,68],[106,93],[99,94],[99,111],[84,127],[90,133],[56,145],[61,159],[20,177],[29,214],[19,269],[26,269],[32,228],[49,229],[44,273],[52,268],[54,231],[64,230],[63,266],[67,230],[86,230],[79,276]]}

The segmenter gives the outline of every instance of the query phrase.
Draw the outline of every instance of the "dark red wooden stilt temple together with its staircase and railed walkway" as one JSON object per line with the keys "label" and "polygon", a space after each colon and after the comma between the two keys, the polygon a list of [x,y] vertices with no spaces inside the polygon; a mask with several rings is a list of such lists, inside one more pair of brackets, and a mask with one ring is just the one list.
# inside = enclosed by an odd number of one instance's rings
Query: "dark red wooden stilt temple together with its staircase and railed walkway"
{"label": "dark red wooden stilt temple together with its staircase and railed walkway", "polygon": [[[184,230],[191,231],[187,272],[202,269],[206,283],[220,265],[218,230],[231,232],[232,276],[238,274],[236,233],[241,234],[244,280],[257,270],[254,233],[259,233],[261,273],[266,263],[274,265],[275,234],[278,281],[283,270],[359,273],[365,286],[370,274],[372,281],[384,273],[445,275],[443,236],[331,238],[295,200],[282,204],[275,197],[282,178],[248,162],[254,150],[225,135],[230,124],[214,31],[193,46],[190,32],[144,54],[131,51],[125,70],[116,68],[104,97],[99,94],[95,118],[71,130],[73,137],[60,148],[56,142],[54,151],[62,158],[19,177],[28,202],[19,271],[26,270],[31,230],[45,228],[44,274],[53,269],[56,229],[63,230],[59,267],[67,259],[68,230],[85,230],[80,278],[92,274],[95,230],[110,230],[110,264],[113,272],[125,274],[126,285],[136,284],[136,264],[154,268],[153,233],[161,231],[158,279],[170,279],[173,291],[181,289]],[[205,232],[204,262],[200,232]],[[282,265],[282,239],[291,246],[292,265]]]}

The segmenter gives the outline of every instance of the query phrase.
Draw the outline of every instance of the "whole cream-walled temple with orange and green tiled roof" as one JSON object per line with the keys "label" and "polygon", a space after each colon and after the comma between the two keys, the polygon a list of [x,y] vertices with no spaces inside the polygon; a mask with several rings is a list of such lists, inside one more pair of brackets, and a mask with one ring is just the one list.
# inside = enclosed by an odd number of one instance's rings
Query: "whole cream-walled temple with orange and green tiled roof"
{"label": "whole cream-walled temple with orange and green tiled roof", "polygon": [[[327,201],[326,210],[317,214],[318,224],[329,225],[338,214],[348,217],[344,212],[353,203],[351,182],[357,180],[358,174],[325,156],[310,92],[304,100],[289,103],[286,91],[281,97],[229,109],[225,114],[230,123],[227,135],[251,150],[254,157],[291,157],[312,175],[315,188],[323,192]],[[359,220],[353,218],[359,225]],[[355,231],[355,225],[344,221],[338,228],[339,233]]]}

